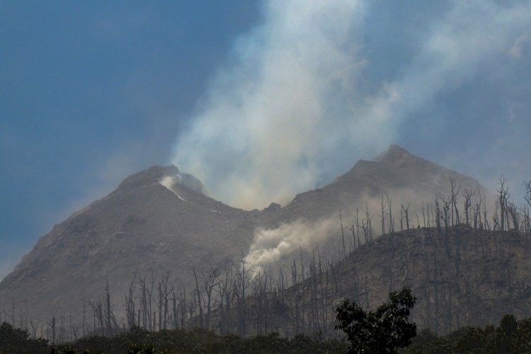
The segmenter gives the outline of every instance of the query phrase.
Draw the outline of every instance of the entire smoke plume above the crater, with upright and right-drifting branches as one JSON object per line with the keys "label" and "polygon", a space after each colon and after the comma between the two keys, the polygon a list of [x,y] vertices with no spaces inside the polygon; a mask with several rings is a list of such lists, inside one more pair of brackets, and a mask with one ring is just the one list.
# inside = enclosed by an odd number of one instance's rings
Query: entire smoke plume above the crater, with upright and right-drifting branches
{"label": "entire smoke plume above the crater, with upright and right-drifting branches", "polygon": [[369,7],[266,1],[263,23],[236,41],[233,61],[178,138],[173,163],[230,205],[287,202],[325,171],[343,172],[345,159],[353,164],[396,141],[409,116],[510,52],[531,18],[531,1],[452,2],[418,28],[418,50],[401,74],[374,90],[362,87]]}

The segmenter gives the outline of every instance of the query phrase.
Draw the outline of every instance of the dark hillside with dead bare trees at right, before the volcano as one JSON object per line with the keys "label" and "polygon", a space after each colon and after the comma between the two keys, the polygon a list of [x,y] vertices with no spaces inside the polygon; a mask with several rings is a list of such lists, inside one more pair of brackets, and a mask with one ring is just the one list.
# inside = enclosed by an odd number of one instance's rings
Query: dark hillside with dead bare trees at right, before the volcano
{"label": "dark hillside with dead bare trees at right, before the volcano", "polygon": [[314,253],[304,265],[305,278],[299,265],[292,268],[299,283],[271,292],[267,302],[260,294],[251,298],[247,321],[252,333],[267,323],[285,334],[334,336],[335,309],[343,299],[376,309],[401,287],[416,296],[411,321],[419,329],[442,334],[498,324],[504,314],[525,318],[531,316],[530,250],[529,229],[461,224],[385,234],[335,264]]}

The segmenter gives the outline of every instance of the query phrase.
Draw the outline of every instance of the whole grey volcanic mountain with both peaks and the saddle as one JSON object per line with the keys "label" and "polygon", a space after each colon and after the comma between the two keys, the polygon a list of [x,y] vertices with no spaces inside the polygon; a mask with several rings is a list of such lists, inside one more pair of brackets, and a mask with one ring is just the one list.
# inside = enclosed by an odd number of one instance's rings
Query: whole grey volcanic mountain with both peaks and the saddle
{"label": "whole grey volcanic mountain with both peaks and the saddle", "polygon": [[14,304],[17,316],[23,311],[35,319],[79,316],[81,302],[100,296],[107,279],[120,312],[118,304],[135,275],[169,269],[173,284],[189,290],[193,268],[222,266],[250,249],[277,246],[261,244],[257,230],[315,222],[339,210],[350,217],[355,207],[379,203],[385,193],[396,202],[394,208],[411,203],[413,210],[413,203],[448,193],[450,178],[486,193],[473,178],[392,145],[374,161],[358,161],[333,183],[299,194],[285,207],[245,211],[207,197],[200,181],[174,166],[154,166],[125,178],[105,198],[42,236],[1,281],[0,309]]}

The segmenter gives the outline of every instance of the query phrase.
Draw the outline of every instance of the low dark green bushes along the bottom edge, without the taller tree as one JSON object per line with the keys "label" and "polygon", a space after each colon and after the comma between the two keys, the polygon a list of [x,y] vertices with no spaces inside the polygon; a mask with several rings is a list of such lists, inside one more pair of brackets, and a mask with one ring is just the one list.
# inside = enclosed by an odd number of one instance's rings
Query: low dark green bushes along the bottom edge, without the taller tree
{"label": "low dark green bushes along the bottom edge, without the taller tree", "polygon": [[[385,316],[380,317],[383,319]],[[391,319],[389,319],[391,320]],[[374,322],[373,322],[374,323]],[[367,327],[368,328],[368,327]],[[375,329],[382,326],[375,326]],[[389,328],[385,327],[384,328]],[[370,332],[370,330],[368,331]],[[358,336],[385,338],[382,332]],[[383,337],[380,337],[383,336]],[[395,337],[391,343],[396,341]],[[384,339],[382,343],[389,343]],[[396,342],[399,343],[399,342]],[[27,331],[13,329],[11,324],[0,325],[0,354],[174,354],[174,353],[346,353],[348,343],[334,339],[319,340],[299,335],[293,338],[270,333],[267,336],[241,338],[235,335],[217,336],[212,331],[181,329],[149,332],[132,329],[107,338],[91,336],[73,343],[49,346],[45,339],[30,339]],[[516,319],[507,314],[499,326],[467,326],[447,336],[436,336],[423,329],[406,348],[387,348],[364,353],[531,353],[531,318]]]}

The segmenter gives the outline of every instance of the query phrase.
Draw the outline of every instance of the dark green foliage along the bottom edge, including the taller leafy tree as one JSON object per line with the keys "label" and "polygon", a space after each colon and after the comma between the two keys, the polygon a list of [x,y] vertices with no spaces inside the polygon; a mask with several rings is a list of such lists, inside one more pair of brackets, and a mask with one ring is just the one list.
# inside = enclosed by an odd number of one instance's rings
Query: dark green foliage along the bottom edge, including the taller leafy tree
{"label": "dark green foliage along the bottom edge, including the taller leafy tree", "polygon": [[[350,353],[531,353],[531,318],[516,319],[507,314],[499,325],[466,326],[447,336],[437,336],[429,329],[415,332],[414,324],[407,322],[409,309],[415,298],[408,290],[393,292],[389,302],[375,312],[363,312],[358,305],[343,302],[343,326],[349,336]],[[407,310],[407,311],[406,311]],[[346,322],[348,317],[360,321]],[[363,324],[363,325],[360,325]],[[355,332],[355,329],[358,332]],[[343,329],[344,330],[344,329]],[[411,344],[406,348],[410,336]],[[352,343],[354,338],[356,343]],[[194,329],[149,332],[135,328],[113,337],[91,336],[73,343],[48,346],[44,339],[30,339],[28,332],[13,329],[11,324],[0,326],[0,354],[170,354],[170,353],[345,353],[347,344],[334,339],[322,339],[299,334],[285,338],[278,333],[241,338],[234,334],[217,336],[213,331]]]}

